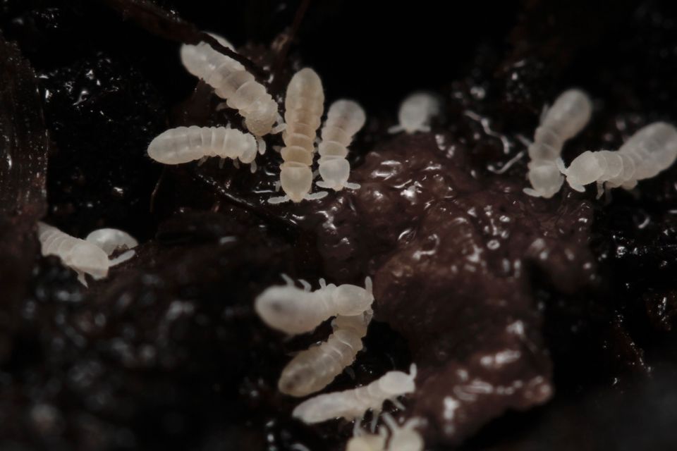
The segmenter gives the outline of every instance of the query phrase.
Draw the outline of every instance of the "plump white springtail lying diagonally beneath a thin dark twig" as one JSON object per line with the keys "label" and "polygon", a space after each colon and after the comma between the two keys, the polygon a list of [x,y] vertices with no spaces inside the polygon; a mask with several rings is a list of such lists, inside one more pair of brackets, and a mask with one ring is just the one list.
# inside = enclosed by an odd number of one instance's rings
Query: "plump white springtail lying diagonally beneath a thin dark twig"
{"label": "plump white springtail lying diagonally beneath a thin dark twig", "polygon": [[[212,36],[224,47],[233,48],[226,39]],[[242,64],[220,54],[205,42],[184,44],[181,61],[188,72],[205,80],[217,96],[226,99],[229,108],[238,110],[250,132],[263,136],[272,131],[278,116],[277,103]]]}

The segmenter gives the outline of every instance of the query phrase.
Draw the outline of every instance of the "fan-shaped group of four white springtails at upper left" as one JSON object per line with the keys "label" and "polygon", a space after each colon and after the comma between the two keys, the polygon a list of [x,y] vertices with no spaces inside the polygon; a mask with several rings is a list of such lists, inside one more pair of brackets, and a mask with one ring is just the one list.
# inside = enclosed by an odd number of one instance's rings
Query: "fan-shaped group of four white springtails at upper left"
{"label": "fan-shaped group of four white springtails at upper left", "polygon": [[[233,49],[223,37],[212,35],[221,45]],[[245,67],[212,49],[206,42],[181,47],[181,61],[186,70],[204,80],[214,93],[226,100],[244,118],[250,133],[230,127],[178,127],[161,133],[150,143],[148,156],[164,164],[204,161],[212,156],[232,159],[233,163],[249,163],[256,171],[256,151],[266,149],[264,135],[284,130],[283,163],[279,186],[284,195],[268,199],[271,204],[322,199],[327,192],[311,193],[315,160],[315,138],[324,112],[324,88],[319,75],[310,68],[299,70],[291,78],[285,97],[286,123],[281,121],[277,102]],[[346,156],[355,134],[365,125],[365,111],[354,101],[339,100],[331,104],[322,128],[317,166],[322,180],[318,187],[335,191],[358,189],[348,182],[350,165]]]}

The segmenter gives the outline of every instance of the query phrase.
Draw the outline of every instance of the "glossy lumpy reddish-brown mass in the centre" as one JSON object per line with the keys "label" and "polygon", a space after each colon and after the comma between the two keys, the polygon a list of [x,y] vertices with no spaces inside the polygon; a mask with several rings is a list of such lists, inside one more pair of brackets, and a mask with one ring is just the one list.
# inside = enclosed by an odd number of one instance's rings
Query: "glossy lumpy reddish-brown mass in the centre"
{"label": "glossy lumpy reddish-brown mass in the centre", "polygon": [[592,207],[473,177],[456,156],[467,149],[442,141],[396,137],[367,154],[353,171],[362,187],[326,202],[316,233],[327,275],[372,274],[375,318],[408,340],[420,374],[408,414],[460,443],[506,409],[551,397],[531,281],[567,292],[594,282]]}

